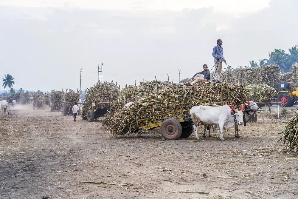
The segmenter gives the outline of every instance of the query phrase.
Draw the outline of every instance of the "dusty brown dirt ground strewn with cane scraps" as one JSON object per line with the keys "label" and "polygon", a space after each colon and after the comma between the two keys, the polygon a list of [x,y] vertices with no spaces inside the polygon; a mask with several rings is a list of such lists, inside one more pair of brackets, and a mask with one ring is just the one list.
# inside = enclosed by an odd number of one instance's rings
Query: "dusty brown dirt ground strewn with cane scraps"
{"label": "dusty brown dirt ground strewn with cane scraps", "polygon": [[161,141],[158,129],[111,138],[98,121],[1,110],[0,198],[298,198],[298,156],[277,146],[292,114],[272,124],[263,111],[222,142],[218,132]]}

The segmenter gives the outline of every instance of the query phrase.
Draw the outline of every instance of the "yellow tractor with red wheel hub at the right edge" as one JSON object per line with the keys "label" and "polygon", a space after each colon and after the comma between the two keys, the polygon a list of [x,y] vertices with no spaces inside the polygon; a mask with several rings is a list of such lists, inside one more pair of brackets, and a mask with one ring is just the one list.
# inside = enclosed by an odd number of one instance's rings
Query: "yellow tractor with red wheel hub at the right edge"
{"label": "yellow tractor with red wheel hub at the right edge", "polygon": [[277,101],[285,105],[285,107],[291,107],[298,100],[297,93],[298,88],[292,91],[292,83],[278,83],[277,84]]}

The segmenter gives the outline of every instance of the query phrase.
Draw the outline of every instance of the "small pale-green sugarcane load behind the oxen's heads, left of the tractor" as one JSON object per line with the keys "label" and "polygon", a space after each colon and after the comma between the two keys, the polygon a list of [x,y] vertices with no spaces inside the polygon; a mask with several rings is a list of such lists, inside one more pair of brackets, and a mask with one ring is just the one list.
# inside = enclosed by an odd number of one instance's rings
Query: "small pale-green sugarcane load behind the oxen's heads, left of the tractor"
{"label": "small pale-green sugarcane load behind the oxen's heads, left of the tractor", "polygon": [[276,96],[276,89],[267,84],[250,84],[245,86],[245,90],[248,92],[249,101],[254,102],[270,102]]}

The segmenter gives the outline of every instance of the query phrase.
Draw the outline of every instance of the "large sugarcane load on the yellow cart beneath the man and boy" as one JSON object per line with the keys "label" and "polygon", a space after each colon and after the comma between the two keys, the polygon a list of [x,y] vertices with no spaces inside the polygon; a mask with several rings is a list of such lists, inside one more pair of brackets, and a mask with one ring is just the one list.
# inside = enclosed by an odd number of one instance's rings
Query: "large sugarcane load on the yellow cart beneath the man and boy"
{"label": "large sugarcane load on the yellow cart beneath the man and boy", "polygon": [[199,82],[187,87],[173,84],[139,98],[129,107],[118,109],[104,126],[114,136],[142,133],[138,126],[148,127],[167,118],[190,117],[189,110],[195,105],[221,106],[232,102],[234,107],[240,107],[247,99],[243,85]]}

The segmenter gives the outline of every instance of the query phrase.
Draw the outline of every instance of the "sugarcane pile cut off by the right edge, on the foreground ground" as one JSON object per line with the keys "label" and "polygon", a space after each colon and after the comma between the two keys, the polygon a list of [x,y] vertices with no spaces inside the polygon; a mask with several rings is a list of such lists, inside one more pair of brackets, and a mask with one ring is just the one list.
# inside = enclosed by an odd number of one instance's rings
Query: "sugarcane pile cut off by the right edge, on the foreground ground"
{"label": "sugarcane pile cut off by the right edge, on the foreground ground", "polygon": [[285,151],[298,151],[298,106],[294,116],[286,123],[283,136],[278,140],[278,144],[283,141],[285,145]]}

